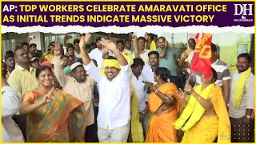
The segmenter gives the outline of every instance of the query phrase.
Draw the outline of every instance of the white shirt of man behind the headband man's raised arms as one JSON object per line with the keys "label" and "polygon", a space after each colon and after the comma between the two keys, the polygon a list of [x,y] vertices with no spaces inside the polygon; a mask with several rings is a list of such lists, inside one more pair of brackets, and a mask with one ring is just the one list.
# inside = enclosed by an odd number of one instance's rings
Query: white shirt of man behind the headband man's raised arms
{"label": "white shirt of man behind the headband man's raised arms", "polygon": [[[113,56],[113,53],[109,51],[109,55]],[[100,70],[103,66],[102,50],[96,47],[94,50],[90,51],[89,57],[90,59],[96,60],[98,69]]]}

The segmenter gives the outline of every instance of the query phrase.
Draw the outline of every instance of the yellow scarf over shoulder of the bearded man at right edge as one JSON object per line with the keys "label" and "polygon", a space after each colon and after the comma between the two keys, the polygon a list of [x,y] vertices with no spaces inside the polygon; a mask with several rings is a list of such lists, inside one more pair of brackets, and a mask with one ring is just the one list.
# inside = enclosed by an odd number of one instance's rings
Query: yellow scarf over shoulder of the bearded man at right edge
{"label": "yellow scarf over shoulder of the bearded man at right edge", "polygon": [[249,77],[251,68],[249,67],[246,71],[242,72],[240,78],[234,89],[234,106],[239,108],[243,97],[243,88],[246,85],[247,78]]}

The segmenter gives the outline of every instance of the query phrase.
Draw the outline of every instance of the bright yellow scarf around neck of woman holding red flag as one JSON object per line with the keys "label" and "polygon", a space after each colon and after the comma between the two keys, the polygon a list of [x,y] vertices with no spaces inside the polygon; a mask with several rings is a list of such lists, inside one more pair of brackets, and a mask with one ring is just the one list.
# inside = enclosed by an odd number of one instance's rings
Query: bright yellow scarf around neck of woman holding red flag
{"label": "bright yellow scarf around neck of woman holding red flag", "polygon": [[[194,91],[198,93],[202,98],[209,99],[212,93],[212,88],[214,87],[214,84],[210,84],[206,87],[205,90],[202,90],[202,84],[198,86],[194,86]],[[190,130],[192,126],[196,122],[202,118],[202,115],[204,114],[205,109],[201,106],[201,104],[198,102],[198,100],[194,97],[190,97],[190,100],[186,106],[186,108],[183,110],[182,115],[174,122],[175,129],[181,129],[183,131]],[[188,119],[189,118],[189,119]],[[186,122],[186,120],[188,121]],[[185,124],[185,126],[183,126]]]}

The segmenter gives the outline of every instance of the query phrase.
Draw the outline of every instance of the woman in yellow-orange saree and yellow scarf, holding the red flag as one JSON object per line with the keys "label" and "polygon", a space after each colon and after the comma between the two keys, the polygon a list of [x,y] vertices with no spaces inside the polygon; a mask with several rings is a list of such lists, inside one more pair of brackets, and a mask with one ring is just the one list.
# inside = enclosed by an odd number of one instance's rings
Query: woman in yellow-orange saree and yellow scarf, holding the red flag
{"label": "woman in yellow-orange saree and yellow scarf, holding the red flag", "polygon": [[182,142],[230,142],[230,119],[222,97],[222,90],[214,86],[217,73],[212,68],[210,78],[202,74],[202,84],[192,86],[187,84],[185,92],[191,94],[187,102],[185,93],[178,94],[181,101],[181,116],[174,127],[185,131]]}

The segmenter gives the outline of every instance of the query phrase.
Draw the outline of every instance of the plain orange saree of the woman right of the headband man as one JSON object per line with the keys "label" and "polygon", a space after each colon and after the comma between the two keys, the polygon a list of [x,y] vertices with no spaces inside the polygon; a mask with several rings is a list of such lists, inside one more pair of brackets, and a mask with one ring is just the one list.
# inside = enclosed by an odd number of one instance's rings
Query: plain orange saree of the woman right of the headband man
{"label": "plain orange saree of the woman right of the headband man", "polygon": [[[177,142],[177,130],[173,122],[178,118],[179,99],[177,97],[177,87],[174,83],[166,83],[158,87],[162,94],[170,94],[176,98],[175,106],[161,114],[154,114],[162,105],[162,100],[156,94],[151,92],[149,96],[150,121],[146,132],[146,142]],[[152,115],[153,114],[153,115]]]}

